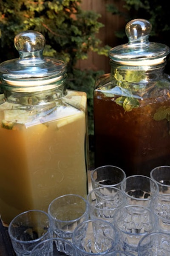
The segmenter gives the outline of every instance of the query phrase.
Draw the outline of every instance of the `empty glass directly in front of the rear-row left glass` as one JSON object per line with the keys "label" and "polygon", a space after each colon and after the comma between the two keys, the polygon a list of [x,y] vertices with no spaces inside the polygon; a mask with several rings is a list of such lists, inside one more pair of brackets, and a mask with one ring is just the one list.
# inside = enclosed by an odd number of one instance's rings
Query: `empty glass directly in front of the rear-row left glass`
{"label": "empty glass directly in front of the rear-row left glass", "polygon": [[115,210],[125,205],[125,196],[117,187],[97,187],[87,196],[89,216],[113,222]]}

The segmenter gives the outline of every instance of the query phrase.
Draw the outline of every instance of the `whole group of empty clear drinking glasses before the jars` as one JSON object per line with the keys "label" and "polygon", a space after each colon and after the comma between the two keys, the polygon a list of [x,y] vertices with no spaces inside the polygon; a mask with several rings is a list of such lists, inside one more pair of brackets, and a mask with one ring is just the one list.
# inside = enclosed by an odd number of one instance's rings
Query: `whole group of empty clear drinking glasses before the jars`
{"label": "whole group of empty clear drinking glasses before the jars", "polygon": [[48,213],[16,216],[8,232],[17,256],[169,256],[170,166],[150,177],[118,167],[91,171],[87,198],[55,198]]}

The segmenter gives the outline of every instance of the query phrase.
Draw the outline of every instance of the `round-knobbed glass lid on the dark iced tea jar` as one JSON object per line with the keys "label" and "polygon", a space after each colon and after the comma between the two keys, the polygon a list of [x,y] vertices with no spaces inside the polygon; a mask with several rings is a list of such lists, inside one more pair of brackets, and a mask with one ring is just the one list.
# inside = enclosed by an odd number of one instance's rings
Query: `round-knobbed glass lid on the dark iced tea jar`
{"label": "round-knobbed glass lid on the dark iced tea jar", "polygon": [[170,48],[162,43],[149,42],[152,25],[148,20],[131,20],[125,27],[128,43],[110,50],[111,60],[125,65],[156,65],[164,62]]}

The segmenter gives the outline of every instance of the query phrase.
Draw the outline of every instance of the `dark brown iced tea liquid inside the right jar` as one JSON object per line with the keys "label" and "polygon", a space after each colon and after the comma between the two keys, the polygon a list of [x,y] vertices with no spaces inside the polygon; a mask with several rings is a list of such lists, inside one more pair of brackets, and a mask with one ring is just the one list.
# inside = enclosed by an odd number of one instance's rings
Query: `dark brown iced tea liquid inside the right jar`
{"label": "dark brown iced tea liquid inside the right jar", "polygon": [[150,99],[127,112],[94,92],[95,167],[115,165],[126,175],[150,175],[170,165],[170,99]]}

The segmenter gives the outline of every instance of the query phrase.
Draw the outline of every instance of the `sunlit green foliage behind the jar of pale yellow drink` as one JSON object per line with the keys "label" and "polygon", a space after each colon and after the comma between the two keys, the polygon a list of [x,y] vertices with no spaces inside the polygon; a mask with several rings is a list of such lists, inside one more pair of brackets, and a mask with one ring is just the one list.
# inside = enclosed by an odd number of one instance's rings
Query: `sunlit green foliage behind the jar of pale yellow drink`
{"label": "sunlit green foliage behind the jar of pale yellow drink", "polygon": [[64,60],[68,65],[68,89],[87,92],[89,133],[93,134],[93,89],[97,72],[75,69],[77,60],[93,51],[108,56],[96,37],[103,26],[100,15],[83,11],[81,0],[0,0],[0,62],[18,58],[14,36],[36,30],[45,36],[43,54]]}

